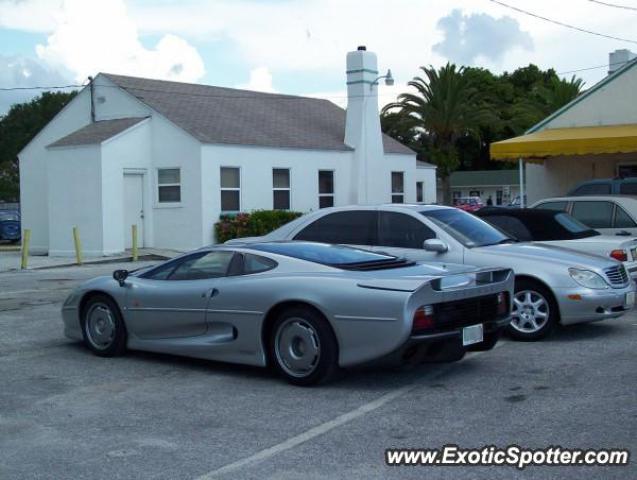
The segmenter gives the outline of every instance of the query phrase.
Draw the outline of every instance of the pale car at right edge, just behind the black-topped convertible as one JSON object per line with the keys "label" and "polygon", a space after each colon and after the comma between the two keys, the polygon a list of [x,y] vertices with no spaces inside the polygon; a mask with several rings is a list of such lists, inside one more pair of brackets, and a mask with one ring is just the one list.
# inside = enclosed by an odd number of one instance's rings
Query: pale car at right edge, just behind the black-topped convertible
{"label": "pale car at right edge, just behind the black-topped convertible", "polygon": [[531,208],[561,210],[604,235],[637,236],[637,197],[596,195],[545,198]]}

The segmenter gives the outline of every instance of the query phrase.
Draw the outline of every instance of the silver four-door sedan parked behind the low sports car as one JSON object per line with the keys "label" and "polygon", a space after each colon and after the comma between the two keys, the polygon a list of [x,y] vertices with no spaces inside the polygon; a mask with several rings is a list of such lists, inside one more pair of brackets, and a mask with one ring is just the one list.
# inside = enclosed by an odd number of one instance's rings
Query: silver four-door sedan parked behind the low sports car
{"label": "silver four-door sedan parked behind the low sports car", "polygon": [[512,268],[516,281],[509,332],[520,340],[543,338],[558,322],[619,317],[635,301],[634,283],[616,260],[517,243],[484,220],[453,207],[321,209],[252,241],[285,239],[368,246],[417,261]]}

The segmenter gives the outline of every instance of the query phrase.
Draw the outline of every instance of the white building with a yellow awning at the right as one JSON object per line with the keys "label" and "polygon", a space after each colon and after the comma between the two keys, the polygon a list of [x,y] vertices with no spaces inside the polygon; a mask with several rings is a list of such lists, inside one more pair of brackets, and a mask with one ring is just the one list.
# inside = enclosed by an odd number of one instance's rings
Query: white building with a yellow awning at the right
{"label": "white building with a yellow awning at the right", "polygon": [[637,58],[612,52],[609,72],[524,135],[491,144],[491,158],[526,170],[529,204],[586,180],[637,176]]}

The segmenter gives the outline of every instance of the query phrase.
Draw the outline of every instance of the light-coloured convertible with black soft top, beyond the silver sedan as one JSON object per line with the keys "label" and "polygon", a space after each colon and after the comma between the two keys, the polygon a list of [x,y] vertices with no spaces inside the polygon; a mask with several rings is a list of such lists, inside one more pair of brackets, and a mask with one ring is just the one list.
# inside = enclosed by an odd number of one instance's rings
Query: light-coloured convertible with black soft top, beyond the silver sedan
{"label": "light-coloured convertible with black soft top, beyond the silver sedan", "polygon": [[624,264],[631,277],[637,277],[637,239],[602,235],[558,210],[487,207],[475,214],[521,242],[542,242],[614,258]]}

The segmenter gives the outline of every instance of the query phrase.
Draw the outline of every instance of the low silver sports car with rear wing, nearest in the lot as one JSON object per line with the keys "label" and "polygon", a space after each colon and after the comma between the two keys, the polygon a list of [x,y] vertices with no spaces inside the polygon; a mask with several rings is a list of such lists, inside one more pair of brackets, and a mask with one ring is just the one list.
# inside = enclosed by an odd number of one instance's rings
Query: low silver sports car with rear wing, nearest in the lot
{"label": "low silver sports car with rear wing, nearest in the lot", "polygon": [[[80,285],[67,337],[97,355],[131,349],[272,365],[292,383],[381,357],[488,350],[510,321],[509,269],[426,265],[313,242],[201,249]],[[444,355],[443,355],[444,357]]]}

